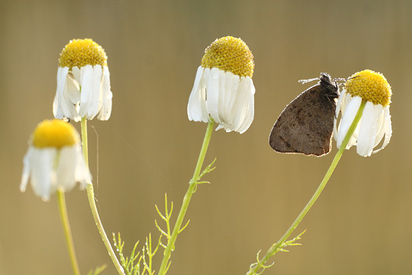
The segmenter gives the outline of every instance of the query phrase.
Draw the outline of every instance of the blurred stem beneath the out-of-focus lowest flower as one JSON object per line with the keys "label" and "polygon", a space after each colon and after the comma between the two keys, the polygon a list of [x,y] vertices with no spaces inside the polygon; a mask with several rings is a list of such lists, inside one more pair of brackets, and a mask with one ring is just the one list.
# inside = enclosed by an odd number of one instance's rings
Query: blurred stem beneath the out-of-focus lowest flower
{"label": "blurred stem beneath the out-of-focus lowest flower", "polygon": [[69,217],[67,216],[65,192],[62,192],[60,190],[57,191],[57,202],[60,219],[62,219],[63,230],[65,231],[67,250],[69,250],[73,274],[80,275],[79,265],[76,259],[76,252],[74,252],[73,237],[71,236]]}

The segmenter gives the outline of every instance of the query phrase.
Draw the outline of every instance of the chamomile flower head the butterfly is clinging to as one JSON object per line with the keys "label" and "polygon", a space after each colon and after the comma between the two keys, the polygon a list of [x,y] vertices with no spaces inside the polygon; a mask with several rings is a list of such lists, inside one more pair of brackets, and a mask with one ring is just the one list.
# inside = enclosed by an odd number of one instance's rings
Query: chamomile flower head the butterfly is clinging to
{"label": "chamomile flower head the butterfly is clinging to", "polygon": [[[356,152],[363,157],[369,157],[387,144],[392,135],[391,115],[389,104],[391,102],[391,86],[385,76],[366,69],[350,76],[345,83],[345,88],[339,96],[334,119],[334,137],[339,148],[345,135],[354,121],[361,102],[366,102],[361,120],[350,137],[346,146],[349,149],[356,145]],[[341,111],[341,121],[336,121]],[[382,146],[374,151],[385,135]]]}

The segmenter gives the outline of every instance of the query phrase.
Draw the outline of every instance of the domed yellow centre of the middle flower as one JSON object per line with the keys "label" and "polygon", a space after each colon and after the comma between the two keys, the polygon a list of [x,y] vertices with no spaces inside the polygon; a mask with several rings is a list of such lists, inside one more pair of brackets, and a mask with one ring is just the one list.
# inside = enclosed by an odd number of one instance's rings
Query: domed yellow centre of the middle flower
{"label": "domed yellow centre of the middle flower", "polygon": [[225,36],[216,39],[206,50],[201,62],[202,67],[216,67],[238,76],[253,76],[253,54],[242,39]]}

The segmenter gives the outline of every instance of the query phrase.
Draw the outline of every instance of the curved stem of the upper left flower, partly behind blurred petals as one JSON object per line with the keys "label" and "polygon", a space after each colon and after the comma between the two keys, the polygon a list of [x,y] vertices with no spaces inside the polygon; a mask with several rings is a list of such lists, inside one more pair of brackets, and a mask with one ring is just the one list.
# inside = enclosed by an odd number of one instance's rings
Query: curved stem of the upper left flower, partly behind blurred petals
{"label": "curved stem of the upper left flower, partly behind blurred petals", "polygon": [[[87,166],[89,166],[89,153],[87,151],[87,120],[86,118],[82,118],[82,147],[83,147],[83,155],[86,161]],[[90,182],[87,184],[87,197],[89,198],[89,204],[91,208],[91,212],[93,214],[93,218],[95,220],[95,224],[98,227],[100,236],[102,236],[102,240],[104,245],[106,246],[106,250],[108,251],[108,255],[111,257],[113,264],[116,267],[117,272],[119,274],[124,275],[124,270],[122,265],[120,265],[119,261],[117,260],[116,254],[111,247],[110,241],[108,241],[106,232],[104,232],[104,228],[102,225],[102,221],[100,221],[98,208],[96,207],[95,203],[95,196],[93,192],[93,184]]]}

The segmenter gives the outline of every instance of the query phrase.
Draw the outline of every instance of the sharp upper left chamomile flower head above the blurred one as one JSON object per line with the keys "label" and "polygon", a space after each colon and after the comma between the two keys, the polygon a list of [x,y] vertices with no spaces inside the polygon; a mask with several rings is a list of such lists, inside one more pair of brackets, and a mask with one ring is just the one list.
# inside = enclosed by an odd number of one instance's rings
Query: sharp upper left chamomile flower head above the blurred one
{"label": "sharp upper left chamomile flower head above the blurred one", "polygon": [[57,89],[53,102],[55,118],[80,121],[108,120],[112,97],[107,56],[91,39],[73,39],[60,53]]}

